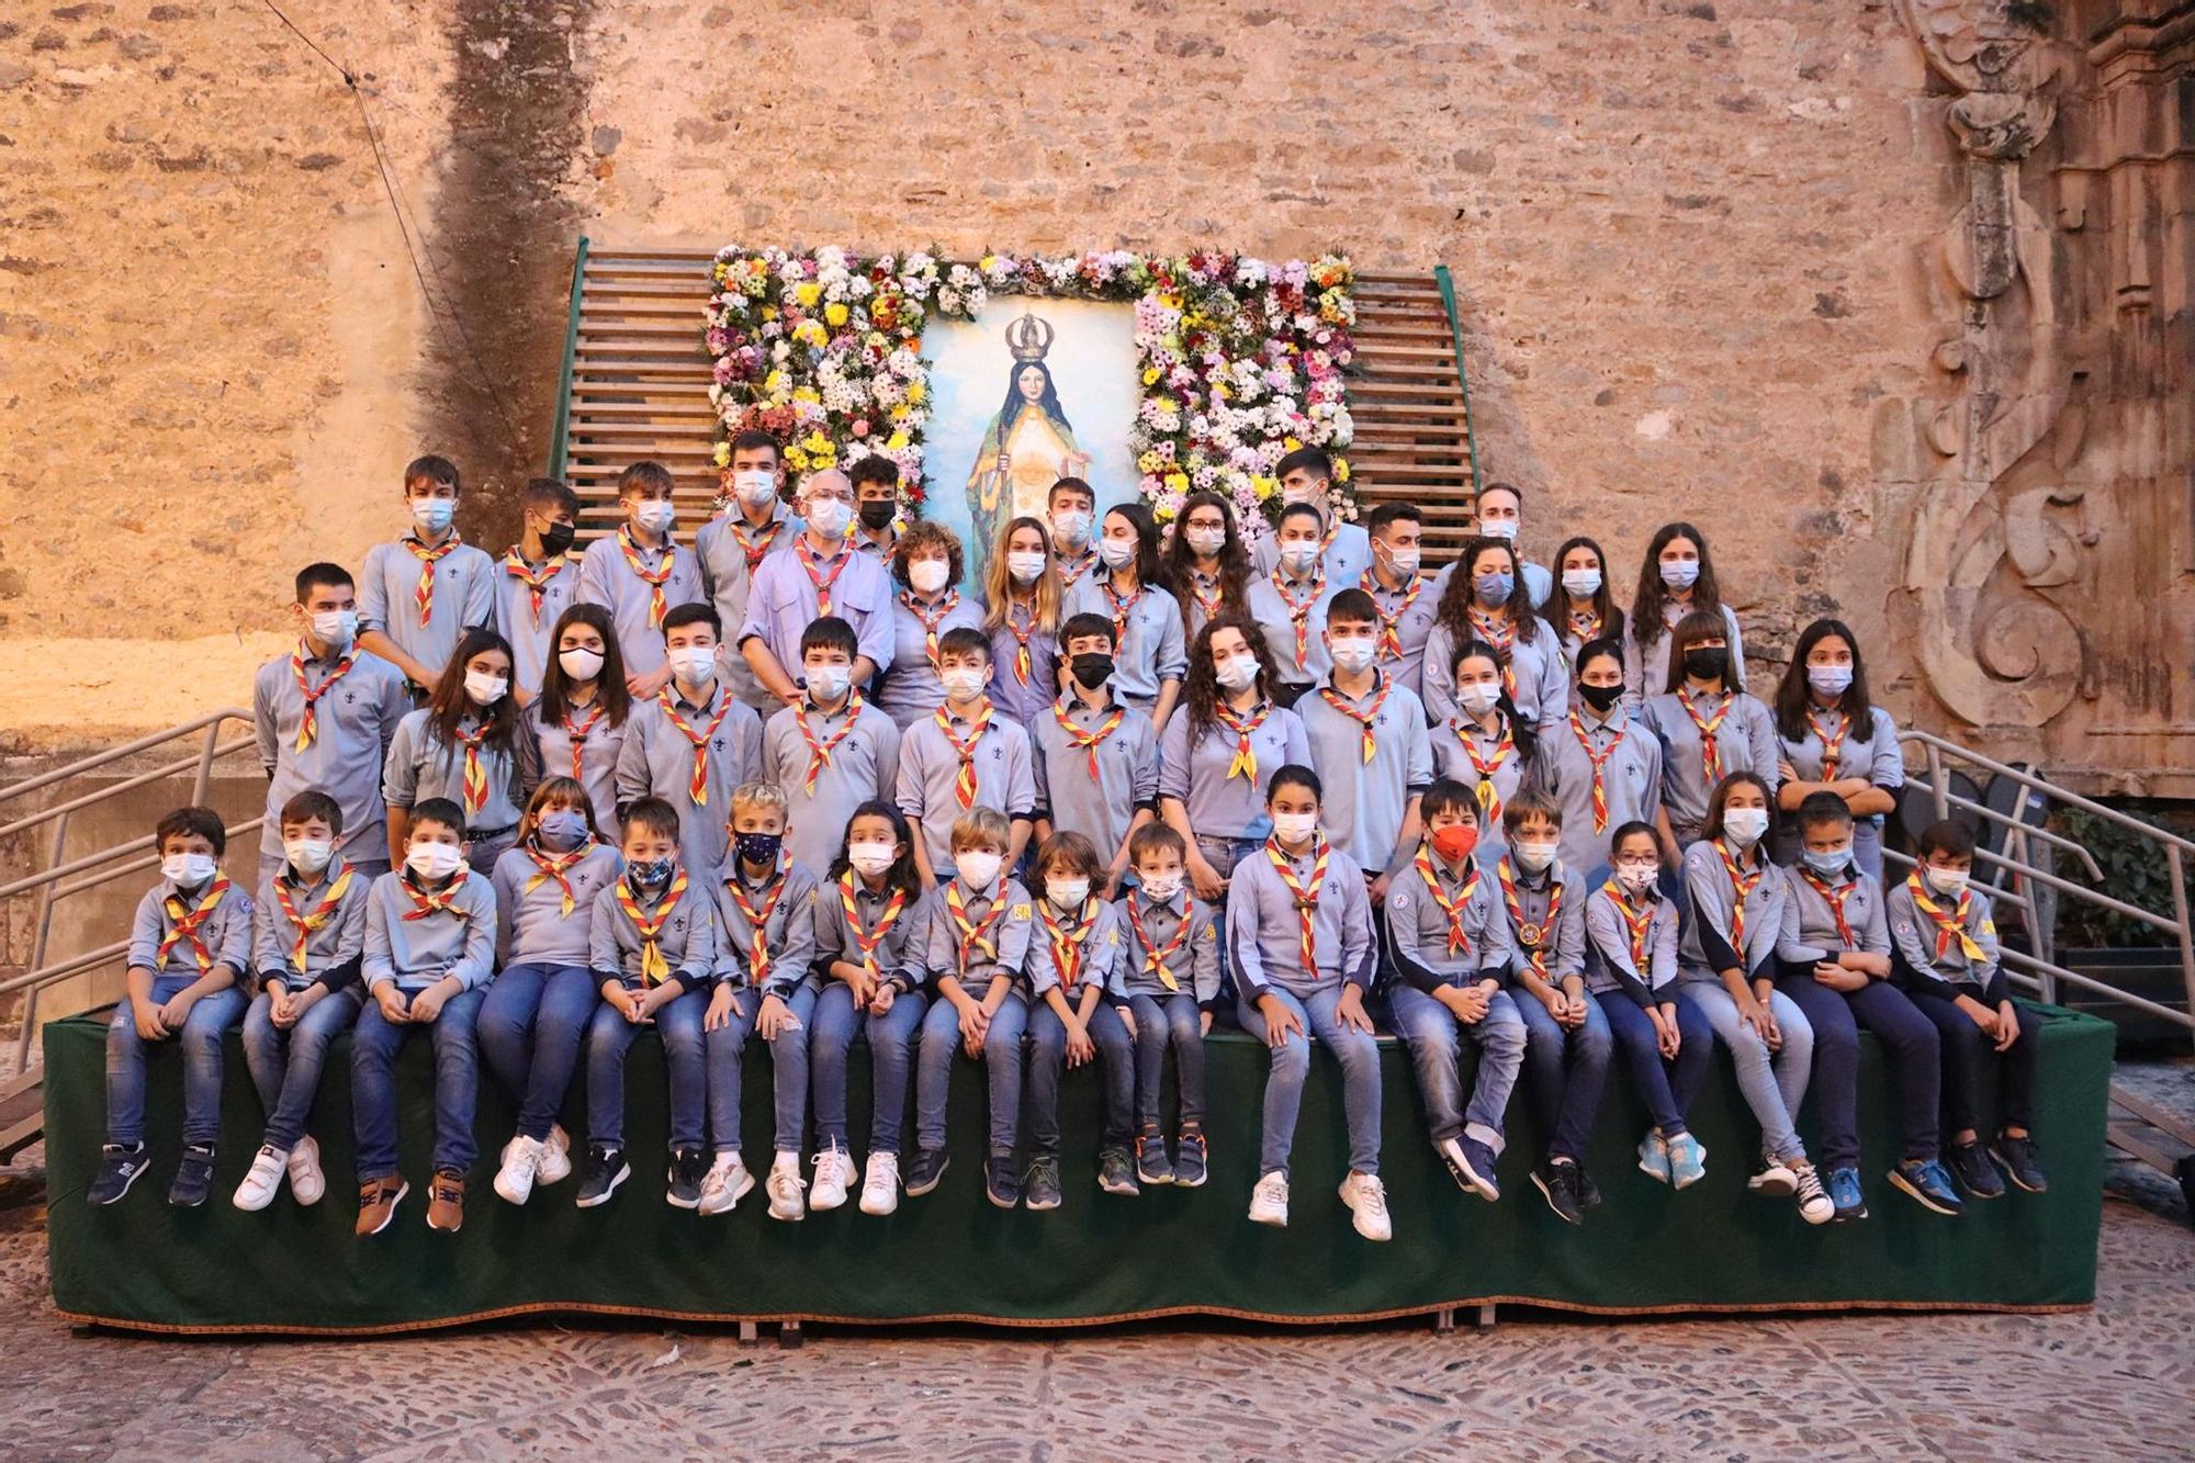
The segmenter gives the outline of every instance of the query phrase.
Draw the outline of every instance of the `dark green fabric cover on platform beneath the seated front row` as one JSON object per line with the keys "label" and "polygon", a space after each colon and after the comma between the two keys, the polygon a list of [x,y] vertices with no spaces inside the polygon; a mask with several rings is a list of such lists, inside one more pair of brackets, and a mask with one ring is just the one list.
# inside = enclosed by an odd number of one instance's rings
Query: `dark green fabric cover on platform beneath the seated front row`
{"label": "dark green fabric cover on platform beneath the seated front row", "polygon": [[[215,1197],[169,1208],[182,1070],[173,1046],[151,1059],[147,1114],[154,1169],[114,1208],[83,1202],[99,1160],[103,1037],[99,1019],[46,1028],[46,1133],[53,1298],[70,1318],[173,1331],[375,1331],[516,1311],[612,1311],[718,1320],[983,1320],[1065,1325],[1163,1314],[1346,1320],[1486,1300],[1585,1311],[1738,1311],[1839,1307],[2052,1309],[2087,1305],[2096,1287],[2103,1208],[2105,1092],[2112,1028],[2044,1010],[2037,1136],[2050,1166],[2044,1197],[2011,1193],[1962,1219],[1921,1210],[1883,1182],[1896,1151],[1886,1079],[1861,1052],[1864,1182],[1872,1217],[1809,1228],[1789,1199],[1745,1193],[1756,1142],[1727,1057],[1716,1057],[1692,1129],[1708,1144],[1706,1182],[1684,1193],[1637,1171],[1642,1112],[1622,1059],[1609,1074],[1591,1171],[1607,1204],[1563,1226],[1528,1177],[1536,1133],[1519,1090],[1504,1197],[1462,1193],[1425,1140],[1422,1107],[1396,1046],[1385,1050],[1383,1171],[1394,1241],[1367,1243],[1335,1195],[1346,1162],[1341,1076],[1319,1054],[1304,1094],[1286,1230],[1245,1219],[1256,1180],[1267,1054],[1242,1035],[1207,1043],[1212,1182],[1137,1199],[1095,1184],[1093,1072],[1065,1085],[1062,1175],[1054,1213],[1001,1213],[983,1199],[983,1083],[955,1063],[953,1169],[942,1188],[871,1219],[849,1202],[779,1224],[757,1186],[731,1215],[702,1219],[663,1202],[665,1090],[661,1048],[643,1037],[628,1065],[632,1180],[595,1210],[577,1180],[536,1188],[511,1208],[494,1195],[494,1153],[511,1105],[485,1079],[481,1153],[465,1228],[426,1228],[432,1109],[428,1043],[399,1065],[404,1173],[413,1193],[375,1239],[353,1239],[347,1048],[336,1046],[312,1116],[327,1197],[299,1208],[288,1191],[259,1215],[228,1195],[259,1142],[259,1103],[230,1037]],[[584,1081],[584,1076],[582,1076]],[[867,1131],[867,1052],[854,1050],[856,1158]],[[575,1123],[579,1094],[566,1109]],[[1811,1112],[1806,1116],[1811,1131]],[[748,1046],[744,1153],[770,1153],[770,1063]],[[806,1166],[803,1166],[806,1175]]]}

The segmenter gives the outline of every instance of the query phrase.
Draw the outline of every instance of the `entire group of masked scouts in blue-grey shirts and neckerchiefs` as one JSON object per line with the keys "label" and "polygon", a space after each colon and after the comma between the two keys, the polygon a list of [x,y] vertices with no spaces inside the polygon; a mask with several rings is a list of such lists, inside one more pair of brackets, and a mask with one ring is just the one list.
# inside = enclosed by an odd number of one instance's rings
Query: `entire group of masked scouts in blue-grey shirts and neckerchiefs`
{"label": "entire group of masked scouts in blue-grey shirts and neckerchiefs", "polygon": [[[1813,1224],[1864,1217],[1861,1026],[1899,1092],[1892,1186],[1943,1215],[1960,1188],[2044,1188],[2035,1017],[2006,995],[1965,826],[1929,828],[1883,883],[1896,732],[1844,624],[1806,628],[1771,707],[1745,692],[1690,525],[1655,536],[1626,617],[1589,538],[1554,573],[1519,558],[1515,488],[1488,488],[1482,534],[1422,576],[1416,507],[1343,523],[1317,450],[1277,477],[1277,532],[1256,543],[1218,494],[1161,536],[1141,503],[1100,521],[1060,479],[1047,518],[1005,525],[975,600],[955,534],[896,527],[880,457],[808,477],[788,507],[775,439],[740,435],[691,549],[669,472],[637,464],[626,521],[577,562],[562,483],[529,483],[498,562],[452,527],[457,470],[415,461],[413,529],[369,551],[362,591],[338,565],[301,571],[299,648],[259,672],[257,898],[219,872],[217,815],[156,828],[92,1202],[145,1171],[145,1043],[169,1035],[169,1199],[209,1197],[239,1017],[266,1138],[235,1204],[285,1180],[301,1204],[325,1193],[305,1127],[351,1030],[360,1235],[408,1193],[393,1065],[410,1028],[435,1048],[439,1230],[463,1221],[483,1054],[518,1109],[496,1193],[525,1204],[577,1169],[579,1206],[615,1195],[641,1026],[669,1070],[667,1199],[705,1215],[757,1182],[779,1219],[856,1186],[871,1215],[931,1193],[955,1054],[986,1068],[994,1204],[1062,1202],[1060,1083],[1093,1063],[1098,1184],[1203,1184],[1216,1015],[1271,1048],[1264,1224],[1288,1217],[1321,1046],[1343,1074],[1341,1199],[1389,1237],[1381,1026],[1409,1050],[1433,1149],[1486,1199],[1526,1085],[1545,1136],[1530,1177],[1572,1224],[1598,1204],[1585,1151],[1613,1050],[1648,1114],[1640,1169],[1684,1188],[1716,1043],[1760,1125],[1749,1186]],[[775,1096],[759,1175],[751,1039]],[[1986,1136],[1984,1043],[2004,1087]],[[560,1114],[582,1057],[575,1142]],[[1796,1131],[1809,1090],[1820,1169]]]}

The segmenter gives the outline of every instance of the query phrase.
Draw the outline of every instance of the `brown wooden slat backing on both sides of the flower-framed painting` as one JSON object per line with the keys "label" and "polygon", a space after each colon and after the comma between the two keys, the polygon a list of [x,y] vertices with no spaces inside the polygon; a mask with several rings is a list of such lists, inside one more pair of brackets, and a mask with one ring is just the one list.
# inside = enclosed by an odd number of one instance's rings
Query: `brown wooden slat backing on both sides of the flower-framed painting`
{"label": "brown wooden slat backing on both sides of the flower-framed painting", "polygon": [[[573,305],[564,479],[579,492],[582,536],[617,523],[617,474],[654,459],[678,474],[680,521],[700,523],[716,492],[702,310],[711,255],[590,248]],[[1427,560],[1444,560],[1471,525],[1464,384],[1431,275],[1357,277],[1357,365],[1348,459],[1359,501],[1418,503]]]}

